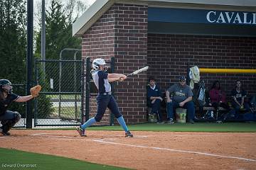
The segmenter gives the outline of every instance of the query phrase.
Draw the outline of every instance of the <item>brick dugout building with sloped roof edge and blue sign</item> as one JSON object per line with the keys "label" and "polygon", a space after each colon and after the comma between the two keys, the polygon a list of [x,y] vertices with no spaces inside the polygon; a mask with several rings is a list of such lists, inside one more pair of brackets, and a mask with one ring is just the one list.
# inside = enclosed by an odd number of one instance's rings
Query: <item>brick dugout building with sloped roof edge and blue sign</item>
{"label": "brick dugout building with sloped roof edge and blue sign", "polygon": [[[256,1],[97,0],[73,24],[82,38],[82,58],[115,58],[114,71],[148,72],[115,84],[114,94],[127,123],[146,122],[146,82],[156,77],[167,89],[186,75],[186,66],[256,68]],[[227,94],[240,79],[255,94],[255,74],[203,74]],[[93,103],[93,98],[90,99]],[[95,111],[95,105],[90,106]]]}

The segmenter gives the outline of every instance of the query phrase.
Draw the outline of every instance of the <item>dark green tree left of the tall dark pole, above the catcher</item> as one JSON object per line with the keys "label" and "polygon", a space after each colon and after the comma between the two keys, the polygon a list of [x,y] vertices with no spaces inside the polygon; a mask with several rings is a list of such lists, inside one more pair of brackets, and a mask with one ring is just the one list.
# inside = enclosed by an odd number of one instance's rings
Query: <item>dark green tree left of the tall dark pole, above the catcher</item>
{"label": "dark green tree left of the tall dark pole, above the catcher", "polygon": [[0,1],[0,79],[26,82],[26,1]]}

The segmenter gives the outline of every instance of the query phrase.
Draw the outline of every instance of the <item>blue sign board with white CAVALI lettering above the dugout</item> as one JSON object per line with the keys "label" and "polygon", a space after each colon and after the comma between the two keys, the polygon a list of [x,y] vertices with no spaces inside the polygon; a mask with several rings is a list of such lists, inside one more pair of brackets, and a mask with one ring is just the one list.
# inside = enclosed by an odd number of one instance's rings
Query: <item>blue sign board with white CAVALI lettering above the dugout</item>
{"label": "blue sign board with white CAVALI lettering above the dugout", "polygon": [[149,21],[167,23],[242,24],[256,26],[256,12],[151,7],[149,7],[148,10]]}

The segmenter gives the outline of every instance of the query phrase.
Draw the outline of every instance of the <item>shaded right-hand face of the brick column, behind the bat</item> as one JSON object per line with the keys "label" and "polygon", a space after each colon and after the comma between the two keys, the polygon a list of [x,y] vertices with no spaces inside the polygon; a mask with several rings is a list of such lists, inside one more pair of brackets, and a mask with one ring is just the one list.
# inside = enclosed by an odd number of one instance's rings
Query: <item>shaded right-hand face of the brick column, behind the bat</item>
{"label": "shaded right-hand face of the brick column, behind the bat", "polygon": [[[147,6],[116,4],[116,72],[129,74],[147,63]],[[127,123],[146,121],[146,72],[119,83],[115,95]]]}

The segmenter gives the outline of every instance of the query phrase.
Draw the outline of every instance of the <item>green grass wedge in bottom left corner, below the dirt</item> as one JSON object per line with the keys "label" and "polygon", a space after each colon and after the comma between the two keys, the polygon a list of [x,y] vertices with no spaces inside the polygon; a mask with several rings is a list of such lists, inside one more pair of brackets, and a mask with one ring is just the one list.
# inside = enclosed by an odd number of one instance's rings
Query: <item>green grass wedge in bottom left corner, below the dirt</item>
{"label": "green grass wedge in bottom left corner, below the dirt", "polygon": [[[14,149],[0,148],[0,169],[41,169],[41,170],[78,170],[78,169],[124,169],[116,166],[92,164],[77,159],[36,154]],[[12,167],[11,167],[12,166]],[[23,167],[27,166],[27,167]],[[30,167],[28,167],[30,166]]]}

